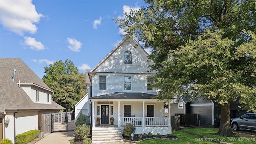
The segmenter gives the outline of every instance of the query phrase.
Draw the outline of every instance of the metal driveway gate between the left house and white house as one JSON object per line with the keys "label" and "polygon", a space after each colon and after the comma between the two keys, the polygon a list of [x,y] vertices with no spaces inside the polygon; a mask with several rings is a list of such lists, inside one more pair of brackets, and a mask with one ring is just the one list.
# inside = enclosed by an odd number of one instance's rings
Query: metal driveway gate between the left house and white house
{"label": "metal driveway gate between the left house and white house", "polygon": [[52,132],[74,131],[76,125],[73,115],[70,112],[52,113]]}

